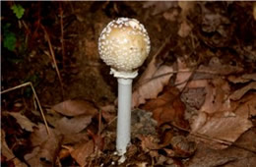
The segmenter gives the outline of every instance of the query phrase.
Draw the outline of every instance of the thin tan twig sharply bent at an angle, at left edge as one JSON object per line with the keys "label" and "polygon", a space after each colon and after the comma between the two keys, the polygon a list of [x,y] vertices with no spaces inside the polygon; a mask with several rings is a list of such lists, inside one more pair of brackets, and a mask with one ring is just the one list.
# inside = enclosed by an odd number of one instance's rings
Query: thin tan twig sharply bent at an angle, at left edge
{"label": "thin tan twig sharply bent at an angle, at left edge", "polygon": [[41,109],[41,105],[40,105],[39,99],[38,99],[38,97],[37,97],[37,95],[36,95],[36,92],[35,92],[35,90],[34,90],[34,88],[33,88],[31,82],[29,82],[29,83],[23,83],[23,84],[14,86],[14,87],[12,87],[12,88],[8,88],[8,89],[6,89],[6,90],[0,91],[0,94],[3,94],[3,93],[6,93],[6,92],[15,90],[15,89],[18,89],[18,88],[27,86],[27,85],[31,85],[31,87],[32,87],[32,93],[33,93],[34,98],[35,98],[35,100],[36,100],[36,102],[37,102],[37,104],[38,104],[38,107],[39,107],[39,110],[40,110],[40,113],[41,113],[42,120],[43,120],[43,122],[44,122],[44,124],[45,124],[45,127],[46,127],[47,134],[50,135],[50,131],[49,131],[49,127],[48,127],[47,121],[46,121],[46,119],[45,119],[44,113],[43,113],[43,111],[42,111],[42,109]]}

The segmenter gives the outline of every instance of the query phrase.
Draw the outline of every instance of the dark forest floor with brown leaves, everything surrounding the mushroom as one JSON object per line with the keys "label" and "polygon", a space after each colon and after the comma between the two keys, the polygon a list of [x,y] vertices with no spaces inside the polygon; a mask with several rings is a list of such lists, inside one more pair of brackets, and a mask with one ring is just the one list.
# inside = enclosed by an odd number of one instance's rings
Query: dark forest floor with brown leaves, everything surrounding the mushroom
{"label": "dark forest floor with brown leaves, everything surrounding the mushroom", "polygon": [[[255,2],[1,2],[2,166],[256,166]],[[148,30],[132,136],[99,58],[119,17]],[[33,91],[34,90],[34,91]]]}

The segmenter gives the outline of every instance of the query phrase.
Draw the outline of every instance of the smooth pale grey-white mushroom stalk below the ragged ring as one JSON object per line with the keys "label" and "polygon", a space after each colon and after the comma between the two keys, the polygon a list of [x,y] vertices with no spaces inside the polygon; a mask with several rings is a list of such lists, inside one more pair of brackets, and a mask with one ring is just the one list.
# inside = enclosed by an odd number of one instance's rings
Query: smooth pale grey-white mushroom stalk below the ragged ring
{"label": "smooth pale grey-white mushroom stalk below the ragged ring", "polygon": [[132,79],[118,78],[118,113],[116,150],[119,155],[126,152],[131,140]]}

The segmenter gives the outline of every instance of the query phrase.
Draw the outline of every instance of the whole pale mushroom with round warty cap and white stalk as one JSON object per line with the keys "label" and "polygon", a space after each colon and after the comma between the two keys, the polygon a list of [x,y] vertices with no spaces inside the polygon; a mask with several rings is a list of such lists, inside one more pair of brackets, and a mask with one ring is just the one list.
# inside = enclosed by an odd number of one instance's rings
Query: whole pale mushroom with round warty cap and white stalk
{"label": "whole pale mushroom with round warty cap and white stalk", "polygon": [[100,58],[118,81],[116,149],[126,152],[130,143],[132,81],[151,49],[146,28],[135,19],[118,18],[103,28],[98,38]]}

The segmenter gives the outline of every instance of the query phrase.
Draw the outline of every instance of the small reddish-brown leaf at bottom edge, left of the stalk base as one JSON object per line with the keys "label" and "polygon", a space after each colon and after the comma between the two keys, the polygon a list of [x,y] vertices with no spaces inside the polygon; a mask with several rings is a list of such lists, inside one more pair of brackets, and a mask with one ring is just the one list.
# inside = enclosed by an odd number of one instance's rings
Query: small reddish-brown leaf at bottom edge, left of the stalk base
{"label": "small reddish-brown leaf at bottom edge, left of the stalk base", "polygon": [[85,143],[78,144],[72,152],[71,156],[77,161],[80,166],[86,166],[87,158],[94,153],[95,151],[95,143],[94,140],[91,139]]}

